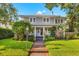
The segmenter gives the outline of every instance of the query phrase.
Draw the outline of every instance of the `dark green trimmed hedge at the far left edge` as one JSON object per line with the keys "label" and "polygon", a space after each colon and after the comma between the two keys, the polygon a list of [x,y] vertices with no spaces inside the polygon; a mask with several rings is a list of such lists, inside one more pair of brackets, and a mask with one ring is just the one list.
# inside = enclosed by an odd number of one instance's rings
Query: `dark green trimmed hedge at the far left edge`
{"label": "dark green trimmed hedge at the far left edge", "polygon": [[14,36],[14,33],[10,29],[0,28],[0,39],[11,38]]}

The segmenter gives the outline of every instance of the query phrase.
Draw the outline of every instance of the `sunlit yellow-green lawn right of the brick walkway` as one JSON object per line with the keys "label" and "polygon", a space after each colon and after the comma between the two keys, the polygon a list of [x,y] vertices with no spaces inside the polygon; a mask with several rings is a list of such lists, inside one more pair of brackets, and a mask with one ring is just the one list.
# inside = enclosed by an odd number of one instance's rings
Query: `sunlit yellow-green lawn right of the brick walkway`
{"label": "sunlit yellow-green lawn right of the brick walkway", "polygon": [[50,56],[79,56],[79,40],[56,40],[45,42]]}

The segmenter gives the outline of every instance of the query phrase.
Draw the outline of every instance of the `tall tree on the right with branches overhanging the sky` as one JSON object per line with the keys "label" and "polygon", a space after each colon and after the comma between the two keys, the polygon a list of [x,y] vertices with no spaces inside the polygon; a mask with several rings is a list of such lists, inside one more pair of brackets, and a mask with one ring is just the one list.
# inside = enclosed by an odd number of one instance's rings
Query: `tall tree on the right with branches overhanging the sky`
{"label": "tall tree on the right with branches overhanging the sky", "polygon": [[79,23],[79,4],[76,3],[47,3],[45,7],[52,11],[53,7],[60,7],[66,11],[67,18],[69,19],[69,31],[73,32],[74,28]]}

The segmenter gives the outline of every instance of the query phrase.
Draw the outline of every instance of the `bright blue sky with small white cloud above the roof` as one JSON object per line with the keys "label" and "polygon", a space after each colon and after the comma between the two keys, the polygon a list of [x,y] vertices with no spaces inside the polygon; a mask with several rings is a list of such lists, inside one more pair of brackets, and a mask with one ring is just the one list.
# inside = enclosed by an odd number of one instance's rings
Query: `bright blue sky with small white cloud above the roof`
{"label": "bright blue sky with small white cloud above the roof", "polygon": [[61,10],[60,7],[54,7],[52,11],[44,7],[43,3],[14,3],[14,7],[17,9],[18,15],[53,15],[66,16],[66,12]]}

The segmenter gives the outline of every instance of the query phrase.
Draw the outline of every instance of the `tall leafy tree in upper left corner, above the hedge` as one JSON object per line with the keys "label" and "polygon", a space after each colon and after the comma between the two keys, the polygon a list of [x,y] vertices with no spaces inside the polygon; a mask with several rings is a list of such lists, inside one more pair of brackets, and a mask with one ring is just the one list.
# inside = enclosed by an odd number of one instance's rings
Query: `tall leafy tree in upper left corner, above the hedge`
{"label": "tall leafy tree in upper left corner, above the hedge", "polygon": [[0,22],[5,24],[17,20],[16,8],[11,3],[1,3],[0,4]]}

